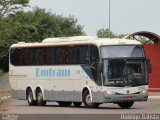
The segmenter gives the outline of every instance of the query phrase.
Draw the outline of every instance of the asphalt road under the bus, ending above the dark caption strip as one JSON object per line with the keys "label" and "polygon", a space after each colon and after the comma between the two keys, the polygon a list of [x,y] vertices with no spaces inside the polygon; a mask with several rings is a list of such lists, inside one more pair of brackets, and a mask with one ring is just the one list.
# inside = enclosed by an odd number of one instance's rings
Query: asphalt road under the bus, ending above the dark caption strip
{"label": "asphalt road under the bus, ending above the dark caption strip", "polygon": [[2,104],[0,112],[14,114],[160,114],[160,100],[150,99],[147,102],[136,102],[130,109],[121,109],[118,105],[112,103],[105,103],[100,105],[99,108],[88,109],[83,105],[80,108],[74,106],[60,107],[56,102],[48,102],[46,106],[42,107],[28,106],[25,100],[10,98]]}

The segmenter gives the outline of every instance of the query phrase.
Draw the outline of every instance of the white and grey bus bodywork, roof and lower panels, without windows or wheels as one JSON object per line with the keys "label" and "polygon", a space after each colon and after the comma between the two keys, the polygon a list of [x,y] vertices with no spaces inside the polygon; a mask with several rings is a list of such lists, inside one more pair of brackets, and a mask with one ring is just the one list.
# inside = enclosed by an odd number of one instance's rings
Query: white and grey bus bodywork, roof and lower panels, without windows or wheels
{"label": "white and grey bus bodywork, roof and lower panels, without windows or wheels", "polygon": [[[58,40],[60,42],[58,42]],[[66,39],[66,38],[65,38]],[[89,45],[98,48],[102,45],[140,45],[138,41],[126,39],[108,39],[93,37],[46,39],[42,43],[19,43],[11,48],[18,47],[45,47],[64,45]],[[97,85],[90,76],[87,65],[48,65],[48,66],[13,66],[9,64],[9,77],[12,87],[12,96],[17,99],[26,99],[26,89],[30,87],[36,99],[36,89],[42,90],[44,100],[47,101],[82,101],[82,92],[87,88],[93,102],[121,102],[126,96],[132,96],[133,101],[147,100],[148,85],[139,87],[106,87]],[[142,94],[140,94],[142,92]]]}

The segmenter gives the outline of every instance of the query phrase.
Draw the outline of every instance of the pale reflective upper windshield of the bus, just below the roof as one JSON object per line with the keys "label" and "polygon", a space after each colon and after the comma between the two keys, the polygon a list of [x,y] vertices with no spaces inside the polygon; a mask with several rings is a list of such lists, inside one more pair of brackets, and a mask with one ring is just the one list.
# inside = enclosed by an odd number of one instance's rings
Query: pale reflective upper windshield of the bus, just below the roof
{"label": "pale reflective upper windshield of the bus, just below the roof", "polygon": [[114,45],[101,47],[102,58],[145,57],[141,45]]}

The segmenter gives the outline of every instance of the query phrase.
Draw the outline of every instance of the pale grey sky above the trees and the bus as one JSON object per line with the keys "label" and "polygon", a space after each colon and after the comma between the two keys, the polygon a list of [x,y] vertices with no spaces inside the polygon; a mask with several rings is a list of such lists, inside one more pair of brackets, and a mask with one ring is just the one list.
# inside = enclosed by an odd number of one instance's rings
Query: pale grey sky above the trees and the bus
{"label": "pale grey sky above the trees and the bus", "polygon": [[[73,15],[87,35],[109,28],[109,0],[30,0],[34,6]],[[116,34],[150,31],[160,35],[160,0],[111,0],[110,29]]]}

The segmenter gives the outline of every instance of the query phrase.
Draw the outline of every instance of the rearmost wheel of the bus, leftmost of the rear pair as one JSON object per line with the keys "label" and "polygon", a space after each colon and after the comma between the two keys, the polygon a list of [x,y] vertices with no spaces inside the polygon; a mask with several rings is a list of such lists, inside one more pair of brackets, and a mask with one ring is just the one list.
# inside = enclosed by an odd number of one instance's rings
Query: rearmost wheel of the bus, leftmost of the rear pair
{"label": "rearmost wheel of the bus, leftmost of the rear pair", "polygon": [[33,99],[33,93],[31,89],[27,90],[27,101],[28,101],[28,105],[30,106],[34,106],[36,105],[36,101]]}

